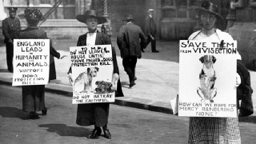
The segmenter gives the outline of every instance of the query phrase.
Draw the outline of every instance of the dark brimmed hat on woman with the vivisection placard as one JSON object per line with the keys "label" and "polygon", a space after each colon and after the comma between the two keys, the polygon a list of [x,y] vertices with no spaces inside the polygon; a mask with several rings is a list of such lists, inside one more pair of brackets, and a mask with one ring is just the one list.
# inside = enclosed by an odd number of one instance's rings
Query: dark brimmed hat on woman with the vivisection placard
{"label": "dark brimmed hat on woman with the vivisection placard", "polygon": [[219,20],[223,19],[222,16],[218,14],[218,6],[214,5],[212,2],[203,2],[201,7],[195,8],[194,10],[198,14],[210,13],[214,14]]}

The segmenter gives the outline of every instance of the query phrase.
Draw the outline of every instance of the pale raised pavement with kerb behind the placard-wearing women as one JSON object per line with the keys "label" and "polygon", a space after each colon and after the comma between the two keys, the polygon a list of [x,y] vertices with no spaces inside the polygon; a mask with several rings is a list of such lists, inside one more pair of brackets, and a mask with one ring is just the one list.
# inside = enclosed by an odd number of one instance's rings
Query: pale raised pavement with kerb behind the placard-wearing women
{"label": "pale raised pavement with kerb behind the placard-wearing women", "polygon": [[[46,92],[72,97],[72,86],[70,86],[66,72],[70,67],[69,46],[75,46],[76,42],[54,40],[53,43],[58,52],[68,57],[55,58],[57,79],[46,85]],[[157,50],[160,53],[151,53],[150,45],[147,46],[146,53],[142,53],[142,58],[138,59],[136,66],[138,80],[132,88],[129,87],[129,78],[122,67],[122,58],[115,38],[112,38],[112,43],[117,51],[120,80],[124,94],[124,97],[115,98],[115,102],[112,104],[172,114],[170,100],[178,94],[178,41],[157,41]],[[13,74],[6,70],[6,48],[1,43],[0,61],[0,84],[11,86]],[[251,86],[256,90],[256,72],[250,70],[250,75]],[[254,110],[256,110],[256,92],[252,98]]]}

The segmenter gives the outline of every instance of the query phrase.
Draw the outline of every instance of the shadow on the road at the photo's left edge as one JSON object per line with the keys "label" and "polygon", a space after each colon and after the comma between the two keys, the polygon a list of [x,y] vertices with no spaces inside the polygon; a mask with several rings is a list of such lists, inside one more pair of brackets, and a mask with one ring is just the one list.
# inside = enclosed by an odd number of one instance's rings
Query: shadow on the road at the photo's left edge
{"label": "shadow on the road at the photo's left edge", "polygon": [[20,118],[22,120],[28,120],[28,114],[23,112],[22,109],[16,107],[0,107],[0,115],[3,118]]}

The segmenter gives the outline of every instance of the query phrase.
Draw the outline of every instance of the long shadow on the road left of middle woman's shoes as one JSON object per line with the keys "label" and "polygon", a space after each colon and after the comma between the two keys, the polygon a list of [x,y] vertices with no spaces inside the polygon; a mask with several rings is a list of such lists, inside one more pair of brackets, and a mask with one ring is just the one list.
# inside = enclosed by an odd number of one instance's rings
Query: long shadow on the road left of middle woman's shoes
{"label": "long shadow on the road left of middle woman's shoes", "polygon": [[48,128],[47,131],[60,136],[87,137],[91,130],[82,127],[66,126],[65,124],[43,124],[39,127]]}

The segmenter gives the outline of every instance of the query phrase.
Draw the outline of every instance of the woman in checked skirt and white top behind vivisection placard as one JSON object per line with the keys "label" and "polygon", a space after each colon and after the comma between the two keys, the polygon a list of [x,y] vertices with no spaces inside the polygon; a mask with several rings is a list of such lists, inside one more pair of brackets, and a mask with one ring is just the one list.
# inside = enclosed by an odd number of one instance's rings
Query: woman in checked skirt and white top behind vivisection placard
{"label": "woman in checked skirt and white top behind vivisection placard", "polygon": [[[202,30],[190,35],[189,40],[233,41],[230,34],[215,28],[217,21],[222,21],[218,7],[211,2],[203,2],[202,7],[196,8],[202,22]],[[237,53],[237,59],[241,59]],[[236,86],[241,79],[237,74]],[[190,117],[189,143],[241,143],[238,118]]]}

